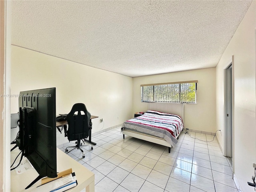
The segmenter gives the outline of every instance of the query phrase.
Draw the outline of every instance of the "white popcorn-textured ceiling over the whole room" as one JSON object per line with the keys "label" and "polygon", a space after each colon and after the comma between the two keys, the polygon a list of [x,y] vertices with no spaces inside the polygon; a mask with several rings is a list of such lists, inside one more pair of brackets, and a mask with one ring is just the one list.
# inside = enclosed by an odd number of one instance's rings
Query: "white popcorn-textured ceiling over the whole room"
{"label": "white popcorn-textured ceiling over the whole room", "polygon": [[250,3],[18,0],[12,44],[130,77],[210,68]]}

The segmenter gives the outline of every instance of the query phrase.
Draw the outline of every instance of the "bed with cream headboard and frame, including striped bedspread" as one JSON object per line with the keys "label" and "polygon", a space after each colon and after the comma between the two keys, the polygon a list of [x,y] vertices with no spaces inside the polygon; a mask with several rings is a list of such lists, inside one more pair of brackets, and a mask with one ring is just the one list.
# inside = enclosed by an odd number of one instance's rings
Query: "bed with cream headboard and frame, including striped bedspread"
{"label": "bed with cream headboard and frame, including striped bedspread", "polygon": [[183,104],[148,103],[148,110],[143,115],[124,122],[121,132],[123,136],[167,146],[170,153],[184,128],[183,122]]}

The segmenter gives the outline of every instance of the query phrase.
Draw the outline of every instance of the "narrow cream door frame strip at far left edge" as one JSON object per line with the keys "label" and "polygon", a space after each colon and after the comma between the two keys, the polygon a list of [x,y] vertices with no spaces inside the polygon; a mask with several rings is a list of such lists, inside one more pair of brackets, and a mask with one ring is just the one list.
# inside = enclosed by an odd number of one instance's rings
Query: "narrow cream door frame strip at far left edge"
{"label": "narrow cream door frame strip at far left edge", "polygon": [[[0,1],[0,191],[10,191],[11,1]],[[2,96],[3,95],[3,96]]]}

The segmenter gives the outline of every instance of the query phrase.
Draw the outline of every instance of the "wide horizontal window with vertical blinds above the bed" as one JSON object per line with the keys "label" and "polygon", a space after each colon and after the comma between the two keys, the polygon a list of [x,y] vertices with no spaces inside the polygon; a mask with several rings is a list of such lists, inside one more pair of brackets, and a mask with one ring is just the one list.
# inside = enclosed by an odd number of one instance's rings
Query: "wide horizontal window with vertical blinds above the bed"
{"label": "wide horizontal window with vertical blinds above the bed", "polygon": [[198,81],[141,85],[142,102],[197,103]]}

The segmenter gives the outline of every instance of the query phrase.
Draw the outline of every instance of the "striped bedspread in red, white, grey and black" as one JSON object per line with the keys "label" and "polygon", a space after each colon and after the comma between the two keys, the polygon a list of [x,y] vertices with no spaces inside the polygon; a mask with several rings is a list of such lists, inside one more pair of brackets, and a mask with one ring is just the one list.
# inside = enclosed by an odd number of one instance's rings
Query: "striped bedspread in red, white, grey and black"
{"label": "striped bedspread in red, white, grey and black", "polygon": [[124,128],[164,138],[175,146],[176,138],[184,126],[182,118],[178,115],[148,110],[143,115],[124,122],[121,129]]}

